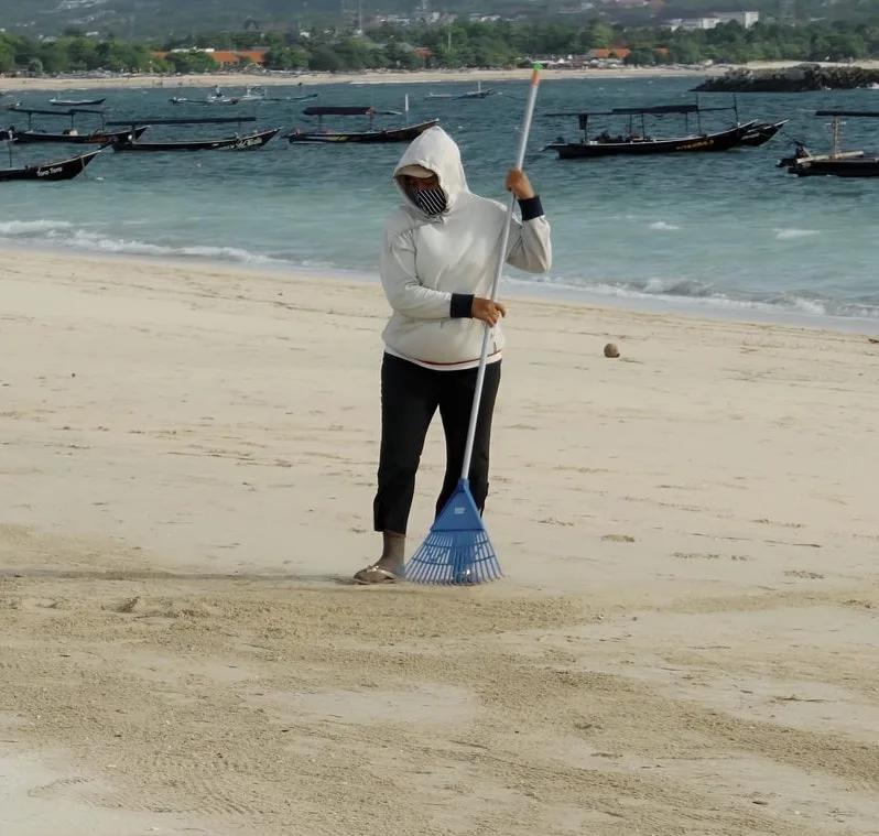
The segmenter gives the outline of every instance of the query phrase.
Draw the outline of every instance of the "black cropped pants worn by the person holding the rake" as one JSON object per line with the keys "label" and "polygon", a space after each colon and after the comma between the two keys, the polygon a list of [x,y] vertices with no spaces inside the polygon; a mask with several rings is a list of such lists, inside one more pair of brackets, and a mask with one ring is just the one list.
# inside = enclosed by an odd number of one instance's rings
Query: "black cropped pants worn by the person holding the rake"
{"label": "black cropped pants worn by the person holding the rake", "polygon": [[[384,355],[381,363],[379,486],[372,503],[376,531],[405,534],[421,452],[437,408],[446,436],[446,475],[436,500],[437,514],[454,493],[464,464],[476,374],[476,369],[425,369]],[[488,496],[491,416],[499,384],[500,361],[488,363],[468,475],[470,491],[480,513]]]}

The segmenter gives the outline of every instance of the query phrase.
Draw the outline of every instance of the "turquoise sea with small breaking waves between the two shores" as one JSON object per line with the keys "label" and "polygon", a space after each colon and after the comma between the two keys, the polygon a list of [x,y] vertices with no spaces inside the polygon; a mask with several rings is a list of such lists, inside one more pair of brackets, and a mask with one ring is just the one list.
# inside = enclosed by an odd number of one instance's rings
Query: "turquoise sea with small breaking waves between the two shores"
{"label": "turquoise sea with small breaking waves between the two shores", "polygon": [[[688,89],[698,80],[589,78],[541,85],[525,169],[552,221],[555,262],[550,275],[538,279],[510,270],[507,292],[540,290],[641,307],[879,327],[879,180],[797,178],[775,166],[790,151],[791,137],[813,151],[829,148],[827,120],[816,118],[815,109],[879,109],[879,90],[741,94],[742,121],[790,119],[784,133],[757,149],[564,162],[542,151],[558,135],[578,134],[575,119],[547,117],[552,111],[693,101]],[[208,90],[170,85],[66,91],[65,97],[106,96],[111,118],[246,113],[258,117],[256,126],[285,130],[253,153],[108,151],[69,183],[1,184],[0,247],[372,274],[383,220],[398,202],[391,172],[405,146],[291,145],[284,134],[310,126],[302,117],[310,105],[402,111],[408,95],[410,121],[437,117],[459,143],[471,188],[506,199],[503,175],[516,153],[528,83],[485,86],[498,95],[426,98],[430,91],[474,89],[474,82],[338,84],[306,88],[319,93],[317,100],[235,108],[171,105],[171,96],[203,99]],[[299,93],[293,84],[268,89],[276,97]],[[236,90],[242,86],[227,88],[229,95]],[[18,98],[39,108],[53,95],[29,91]],[[702,94],[699,101],[718,106],[731,102],[731,96]],[[9,113],[0,117],[12,121]],[[386,117],[382,123],[403,118]],[[734,115],[703,118],[704,127],[719,129]],[[35,127],[47,130],[65,126],[64,119],[34,119],[40,120]],[[15,121],[23,127],[20,115]],[[362,124],[348,118],[333,127]],[[594,132],[604,124],[597,121]],[[623,124],[607,127],[614,131]],[[654,135],[679,134],[683,118],[664,117],[649,129]],[[236,130],[235,124],[154,127],[145,138],[215,138]],[[849,119],[843,146],[879,153],[879,120]],[[12,159],[14,164],[58,159],[76,148],[17,146]]]}

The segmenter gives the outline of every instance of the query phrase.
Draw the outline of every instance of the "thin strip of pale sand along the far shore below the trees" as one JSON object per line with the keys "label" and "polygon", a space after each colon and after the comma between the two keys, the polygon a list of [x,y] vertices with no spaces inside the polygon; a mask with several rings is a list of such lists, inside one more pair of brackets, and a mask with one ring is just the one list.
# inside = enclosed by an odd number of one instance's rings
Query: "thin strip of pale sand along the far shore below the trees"
{"label": "thin strip of pale sand along the far shore below the trees", "polygon": [[[718,65],[693,67],[612,67],[606,69],[544,69],[543,78],[704,78],[723,75],[729,69],[784,69],[803,63],[815,63],[822,67],[864,67],[879,68],[879,61],[862,61],[853,64],[834,62],[775,61],[753,62],[745,65]],[[363,73],[209,73],[183,76],[159,75],[108,75],[99,78],[3,78],[0,77],[0,94],[15,94],[39,90],[86,90],[86,89],[142,89],[156,88],[174,90],[180,87],[245,87],[247,85],[313,87],[326,84],[453,84],[465,82],[514,82],[525,80],[531,69],[421,69],[369,70]]]}

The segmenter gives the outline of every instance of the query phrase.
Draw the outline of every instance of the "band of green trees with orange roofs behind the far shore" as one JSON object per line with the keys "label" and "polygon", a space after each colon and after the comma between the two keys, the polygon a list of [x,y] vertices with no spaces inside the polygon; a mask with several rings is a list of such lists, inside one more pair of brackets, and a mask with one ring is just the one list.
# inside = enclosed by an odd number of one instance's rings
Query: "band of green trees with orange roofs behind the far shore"
{"label": "band of green trees with orange roofs behind the far shore", "polygon": [[[744,64],[751,61],[844,61],[879,56],[879,19],[814,22],[804,26],[728,23],[713,30],[586,25],[562,22],[455,22],[449,26],[400,30],[383,25],[355,36],[326,30],[204,33],[163,44],[84,37],[75,31],[50,42],[0,33],[0,73],[59,74],[105,69],[132,73],[206,73],[217,68],[200,48],[265,48],[270,69],[314,72],[373,68],[510,67],[536,57],[585,55],[593,48],[630,50],[630,64]],[[426,47],[430,54],[422,48]],[[156,52],[170,52],[161,58]],[[620,52],[620,55],[625,53]]]}

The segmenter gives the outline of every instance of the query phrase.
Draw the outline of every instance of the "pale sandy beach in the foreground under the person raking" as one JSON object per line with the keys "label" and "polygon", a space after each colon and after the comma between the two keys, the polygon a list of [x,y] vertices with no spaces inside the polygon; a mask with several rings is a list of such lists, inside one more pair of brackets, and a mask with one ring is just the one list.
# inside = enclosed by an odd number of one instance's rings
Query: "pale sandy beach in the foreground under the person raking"
{"label": "pale sandy beach in the foreground under the person raking", "polygon": [[879,834],[866,335],[509,300],[507,577],[360,588],[377,283],[0,259],[0,833]]}

